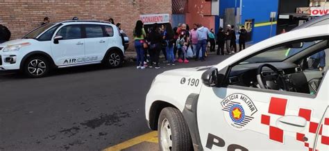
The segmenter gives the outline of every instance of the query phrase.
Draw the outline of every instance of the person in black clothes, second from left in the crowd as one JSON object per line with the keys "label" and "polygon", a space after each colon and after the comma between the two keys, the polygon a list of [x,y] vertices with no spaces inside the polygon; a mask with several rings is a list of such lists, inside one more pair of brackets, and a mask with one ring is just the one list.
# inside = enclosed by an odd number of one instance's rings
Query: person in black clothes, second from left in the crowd
{"label": "person in black clothes, second from left in the crowd", "polygon": [[154,62],[155,69],[159,69],[159,55],[161,51],[162,35],[160,33],[160,28],[158,28],[158,24],[153,25],[151,33],[149,34],[149,42],[149,53],[151,55],[151,65],[149,67],[152,68]]}

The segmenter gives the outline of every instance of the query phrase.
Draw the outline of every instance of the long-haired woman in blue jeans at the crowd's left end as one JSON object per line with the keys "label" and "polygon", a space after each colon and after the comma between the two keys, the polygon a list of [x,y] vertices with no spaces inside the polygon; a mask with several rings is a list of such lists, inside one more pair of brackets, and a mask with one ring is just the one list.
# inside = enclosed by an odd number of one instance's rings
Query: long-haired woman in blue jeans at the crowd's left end
{"label": "long-haired woman in blue jeans at the crowd's left end", "polygon": [[144,24],[141,20],[136,22],[136,26],[133,30],[135,49],[137,53],[137,69],[145,69],[144,66],[144,39],[146,37]]}

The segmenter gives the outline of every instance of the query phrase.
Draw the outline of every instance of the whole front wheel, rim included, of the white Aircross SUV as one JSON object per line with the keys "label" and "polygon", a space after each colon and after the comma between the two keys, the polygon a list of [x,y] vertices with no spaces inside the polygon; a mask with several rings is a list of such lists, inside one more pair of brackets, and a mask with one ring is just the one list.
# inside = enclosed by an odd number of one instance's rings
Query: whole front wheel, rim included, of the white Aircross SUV
{"label": "whole front wheel, rim included, of the white Aircross SUV", "polygon": [[44,57],[30,57],[24,63],[24,73],[30,78],[41,78],[49,72],[48,60]]}

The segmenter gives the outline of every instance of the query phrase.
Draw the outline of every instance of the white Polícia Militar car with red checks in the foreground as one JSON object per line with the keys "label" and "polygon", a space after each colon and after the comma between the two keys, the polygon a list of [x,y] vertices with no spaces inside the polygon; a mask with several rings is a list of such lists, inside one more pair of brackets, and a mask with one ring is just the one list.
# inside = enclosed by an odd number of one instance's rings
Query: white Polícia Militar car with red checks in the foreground
{"label": "white Pol\u00edcia Militar car with red checks in the foreground", "polygon": [[214,66],[165,71],[146,96],[160,150],[329,150],[329,25],[293,30]]}

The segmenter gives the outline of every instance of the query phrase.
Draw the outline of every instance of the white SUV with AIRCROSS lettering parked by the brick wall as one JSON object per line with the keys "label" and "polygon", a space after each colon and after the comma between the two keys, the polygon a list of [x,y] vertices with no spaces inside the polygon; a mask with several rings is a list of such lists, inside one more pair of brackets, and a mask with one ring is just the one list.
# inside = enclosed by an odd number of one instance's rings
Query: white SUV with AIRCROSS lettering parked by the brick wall
{"label": "white SUV with AIRCROSS lettering parked by the brick wall", "polygon": [[121,66],[124,42],[117,26],[101,21],[62,21],[40,26],[22,39],[0,44],[0,71],[40,78],[53,68],[104,63]]}

